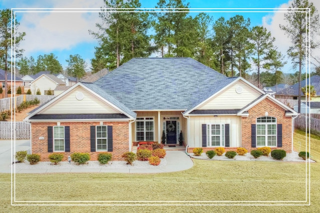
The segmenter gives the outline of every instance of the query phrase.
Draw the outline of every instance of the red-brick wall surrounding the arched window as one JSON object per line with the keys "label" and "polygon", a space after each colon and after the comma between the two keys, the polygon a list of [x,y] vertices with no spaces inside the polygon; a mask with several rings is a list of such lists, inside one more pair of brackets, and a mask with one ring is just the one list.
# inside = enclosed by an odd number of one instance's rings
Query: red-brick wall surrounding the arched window
{"label": "red-brick wall surrounding the arched window", "polygon": [[256,118],[265,116],[265,112],[268,112],[268,116],[275,117],[277,124],[282,124],[282,147],[271,148],[283,149],[287,153],[291,153],[291,139],[292,139],[292,123],[291,117],[285,117],[285,110],[275,104],[269,99],[264,99],[250,110],[248,110],[249,116],[241,118],[241,146],[250,152],[251,148],[251,124],[256,123]]}

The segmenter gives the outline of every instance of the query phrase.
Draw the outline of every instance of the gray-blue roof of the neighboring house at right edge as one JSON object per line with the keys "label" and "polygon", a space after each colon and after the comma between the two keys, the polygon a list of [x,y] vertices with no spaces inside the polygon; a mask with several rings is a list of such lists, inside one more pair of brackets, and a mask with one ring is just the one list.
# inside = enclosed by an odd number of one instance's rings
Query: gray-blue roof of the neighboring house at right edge
{"label": "gray-blue roof of the neighboring house at right edge", "polygon": [[[307,84],[309,83],[309,78],[301,81],[301,88],[305,87],[306,83]],[[311,76],[310,77],[310,85],[312,85],[314,87],[316,95],[320,95],[320,76],[318,76],[318,75]],[[299,83],[295,83],[292,86],[289,86],[289,87],[275,93],[275,95],[298,96],[299,95],[298,91],[299,91]],[[302,92],[301,92],[301,95],[303,95]]]}

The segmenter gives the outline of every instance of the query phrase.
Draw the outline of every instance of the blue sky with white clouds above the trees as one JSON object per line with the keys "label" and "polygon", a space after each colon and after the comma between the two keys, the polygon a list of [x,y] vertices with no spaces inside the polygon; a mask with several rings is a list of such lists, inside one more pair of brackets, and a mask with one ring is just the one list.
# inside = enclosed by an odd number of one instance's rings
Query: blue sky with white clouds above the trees
{"label": "blue sky with white clouds above the trees", "polygon": [[[141,7],[154,8],[157,0],[140,0]],[[185,0],[189,2],[189,7],[196,8],[287,8],[289,0]],[[320,8],[320,1],[313,0],[316,8]],[[16,11],[16,17],[20,22],[19,31],[26,33],[25,39],[21,42],[20,48],[24,49],[23,56],[36,58],[38,55],[54,53],[63,68],[66,67],[66,59],[69,55],[79,54],[90,67],[90,59],[94,57],[94,46],[97,40],[89,35],[88,30],[97,31],[95,23],[99,22],[98,9],[103,6],[103,0],[1,0],[0,8],[29,8]],[[65,12],[46,11],[44,9],[30,8],[66,8]],[[71,12],[67,8],[87,8],[79,12]],[[84,11],[91,12],[84,12]],[[286,53],[290,45],[287,36],[278,27],[283,22],[283,13],[261,12],[257,9],[254,12],[231,12],[226,9],[217,9],[210,13],[216,20],[220,16],[226,19],[241,14],[245,18],[250,18],[251,26],[263,25],[276,38],[275,45],[283,54]],[[235,10],[235,9],[233,9]],[[41,12],[40,12],[41,11]],[[43,12],[45,11],[45,12]],[[73,10],[74,11],[74,10]],[[228,12],[225,12],[228,11]],[[191,13],[192,15],[196,13]],[[157,56],[157,55],[153,55]],[[284,67],[284,72],[294,72],[290,59]],[[254,69],[254,68],[253,68]]]}

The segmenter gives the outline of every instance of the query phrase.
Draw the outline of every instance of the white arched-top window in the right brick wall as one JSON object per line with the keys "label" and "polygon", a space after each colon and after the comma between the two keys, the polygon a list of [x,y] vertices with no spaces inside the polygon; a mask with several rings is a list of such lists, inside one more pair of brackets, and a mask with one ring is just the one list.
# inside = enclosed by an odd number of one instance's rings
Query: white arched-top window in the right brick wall
{"label": "white arched-top window in the right brick wall", "polygon": [[256,119],[256,146],[276,146],[276,118],[264,116]]}

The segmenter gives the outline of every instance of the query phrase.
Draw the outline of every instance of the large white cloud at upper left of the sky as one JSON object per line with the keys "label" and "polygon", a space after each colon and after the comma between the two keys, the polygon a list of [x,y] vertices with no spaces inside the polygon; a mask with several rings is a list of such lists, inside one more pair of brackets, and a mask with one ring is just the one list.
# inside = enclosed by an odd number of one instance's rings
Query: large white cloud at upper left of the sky
{"label": "large white cloud at upper left of the sky", "polygon": [[[51,8],[99,8],[103,5],[102,0],[66,0],[51,1],[51,3]],[[43,4],[38,5],[45,7]],[[36,5],[28,7],[32,6]],[[88,9],[81,10],[88,11]],[[95,41],[88,30],[96,31],[95,23],[99,21],[97,12],[71,12],[71,9],[44,13],[32,11],[34,12],[16,13],[20,20],[18,31],[26,33],[24,41],[20,44],[26,55],[36,51],[68,50],[78,43]]]}

